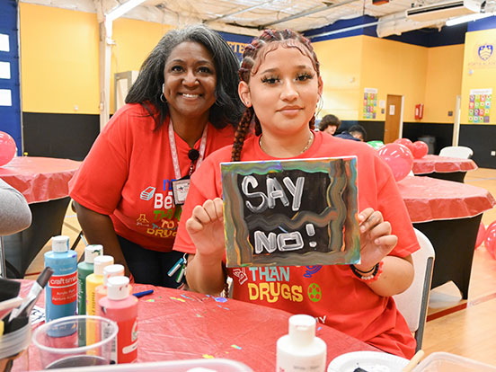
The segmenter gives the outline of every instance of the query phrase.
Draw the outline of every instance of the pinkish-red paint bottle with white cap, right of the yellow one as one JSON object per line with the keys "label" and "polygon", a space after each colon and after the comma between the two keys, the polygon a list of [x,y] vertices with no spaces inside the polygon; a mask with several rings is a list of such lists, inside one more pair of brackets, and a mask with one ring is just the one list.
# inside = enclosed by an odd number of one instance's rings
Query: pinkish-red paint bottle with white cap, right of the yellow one
{"label": "pinkish-red paint bottle with white cap, right of the yellow one", "polygon": [[129,295],[127,277],[111,277],[107,281],[107,297],[98,305],[100,314],[117,323],[117,363],[131,363],[137,359],[137,297]]}

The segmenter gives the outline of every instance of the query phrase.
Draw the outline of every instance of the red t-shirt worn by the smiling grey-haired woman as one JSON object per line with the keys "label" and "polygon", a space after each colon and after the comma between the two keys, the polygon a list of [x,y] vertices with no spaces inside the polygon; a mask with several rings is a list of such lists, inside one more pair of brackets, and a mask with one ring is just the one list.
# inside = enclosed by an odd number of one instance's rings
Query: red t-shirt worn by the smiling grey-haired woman
{"label": "red t-shirt worn by the smiling grey-haired woman", "polygon": [[[140,104],[127,104],[103,128],[71,182],[72,199],[111,217],[115,232],[146,249],[173,248],[182,207],[173,201],[175,179],[168,135],[169,121],[155,121]],[[182,176],[190,168],[190,146],[175,136]],[[205,156],[232,144],[234,129],[208,124]],[[199,150],[200,139],[194,148]],[[200,167],[202,164],[200,164]]]}

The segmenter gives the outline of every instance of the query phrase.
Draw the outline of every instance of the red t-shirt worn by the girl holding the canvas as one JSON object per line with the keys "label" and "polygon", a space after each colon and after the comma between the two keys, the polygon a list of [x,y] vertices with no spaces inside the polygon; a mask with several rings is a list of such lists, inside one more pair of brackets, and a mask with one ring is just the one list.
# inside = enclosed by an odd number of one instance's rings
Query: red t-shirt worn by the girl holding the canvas
{"label": "red t-shirt worn by the girl holding the canvas", "polygon": [[[230,161],[231,147],[210,155],[199,172],[193,174],[174,250],[195,252],[185,222],[194,206],[222,196],[219,164]],[[376,150],[361,142],[317,132],[312,146],[296,158],[347,155],[358,157],[359,211],[368,207],[380,210],[398,236],[398,244],[390,254],[405,257],[417,251],[419,244],[393,174]],[[261,151],[258,137],[246,140],[242,161],[272,159]],[[311,314],[317,321],[381,350],[406,358],[413,356],[415,340],[393,298],[376,295],[351,272],[349,265],[246,267],[228,272],[233,278],[236,299]]]}

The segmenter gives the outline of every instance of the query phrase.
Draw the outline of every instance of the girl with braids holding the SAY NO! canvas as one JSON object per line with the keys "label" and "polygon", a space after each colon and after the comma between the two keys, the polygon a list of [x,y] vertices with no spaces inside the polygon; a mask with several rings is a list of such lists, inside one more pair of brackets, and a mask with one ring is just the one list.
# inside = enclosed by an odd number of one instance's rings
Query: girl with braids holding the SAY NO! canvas
{"label": "girl with braids holding the SAY NO! canvas", "polygon": [[[411,253],[419,244],[393,173],[372,147],[312,130],[323,83],[314,49],[299,33],[263,31],[244,49],[240,77],[246,110],[235,143],[208,156],[193,174],[174,243],[174,250],[190,253],[190,289],[217,295],[229,276],[235,299],[310,314],[411,358],[415,340],[391,296],[412,283]],[[257,136],[245,138],[252,120]],[[281,268],[226,269],[220,163],[349,155],[358,157],[360,263],[322,266],[311,276],[304,275],[305,266],[291,266],[283,269],[288,276],[270,278],[261,269]],[[308,295],[311,286],[320,288],[319,301]]]}

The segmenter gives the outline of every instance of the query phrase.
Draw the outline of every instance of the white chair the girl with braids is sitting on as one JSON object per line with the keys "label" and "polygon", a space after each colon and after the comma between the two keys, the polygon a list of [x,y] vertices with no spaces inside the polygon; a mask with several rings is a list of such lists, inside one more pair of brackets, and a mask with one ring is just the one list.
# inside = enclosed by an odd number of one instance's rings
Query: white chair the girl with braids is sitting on
{"label": "white chair the girl with braids is sitting on", "polygon": [[417,349],[421,350],[424,325],[429,305],[430,282],[434,267],[435,252],[430,240],[419,230],[415,230],[421,249],[412,253],[415,276],[412,285],[399,295],[394,295],[396,307],[403,314],[408,328],[414,333]]}

